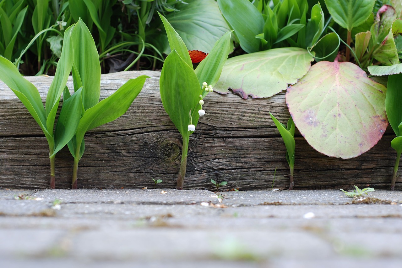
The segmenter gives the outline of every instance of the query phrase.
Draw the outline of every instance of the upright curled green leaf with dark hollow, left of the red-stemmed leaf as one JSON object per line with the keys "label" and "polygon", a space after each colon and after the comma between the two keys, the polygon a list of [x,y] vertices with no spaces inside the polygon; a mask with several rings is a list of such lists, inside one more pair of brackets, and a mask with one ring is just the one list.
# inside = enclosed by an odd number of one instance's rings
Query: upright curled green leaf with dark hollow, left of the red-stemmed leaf
{"label": "upright curled green leaf with dark hollow, left of the red-stemmed leaf", "polygon": [[311,18],[306,26],[306,46],[314,45],[322,34],[325,25],[324,12],[320,2],[311,9]]}

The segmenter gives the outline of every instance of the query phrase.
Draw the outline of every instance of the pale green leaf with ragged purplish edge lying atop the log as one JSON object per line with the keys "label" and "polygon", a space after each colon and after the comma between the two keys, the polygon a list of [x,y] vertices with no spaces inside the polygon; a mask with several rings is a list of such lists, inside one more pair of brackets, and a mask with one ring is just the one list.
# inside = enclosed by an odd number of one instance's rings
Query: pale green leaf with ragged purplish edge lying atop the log
{"label": "pale green leaf with ragged purplish edge lying atop the log", "polygon": [[274,48],[226,61],[214,89],[247,99],[271,97],[293,85],[310,69],[314,58],[303,48]]}

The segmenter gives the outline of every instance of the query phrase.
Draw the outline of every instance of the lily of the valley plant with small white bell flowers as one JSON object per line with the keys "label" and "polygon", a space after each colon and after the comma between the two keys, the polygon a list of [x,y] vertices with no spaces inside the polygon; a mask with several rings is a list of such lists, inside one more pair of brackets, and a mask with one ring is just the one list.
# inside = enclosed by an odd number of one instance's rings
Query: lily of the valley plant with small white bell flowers
{"label": "lily of the valley plant with small white bell flowers", "polygon": [[159,14],[172,52],[166,57],[160,75],[160,97],[170,120],[183,137],[183,152],[177,189],[183,189],[187,167],[187,150],[190,135],[195,131],[202,109],[203,98],[218,81],[222,68],[230,51],[230,35],[226,32],[213,46],[207,57],[195,70],[186,45],[182,38],[170,25],[168,20]]}

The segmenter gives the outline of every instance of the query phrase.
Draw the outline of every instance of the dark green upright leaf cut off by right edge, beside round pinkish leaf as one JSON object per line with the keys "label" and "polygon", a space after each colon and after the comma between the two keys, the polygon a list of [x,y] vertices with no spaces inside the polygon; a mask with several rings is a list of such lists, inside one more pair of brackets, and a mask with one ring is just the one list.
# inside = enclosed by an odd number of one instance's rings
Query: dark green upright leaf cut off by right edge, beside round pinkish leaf
{"label": "dark green upright leaf cut off by right edge, beside round pinkish leaf", "polygon": [[[402,64],[398,64],[399,66]],[[396,136],[402,136],[399,125],[402,122],[402,73],[388,76],[387,95],[385,98],[385,109],[388,121]]]}

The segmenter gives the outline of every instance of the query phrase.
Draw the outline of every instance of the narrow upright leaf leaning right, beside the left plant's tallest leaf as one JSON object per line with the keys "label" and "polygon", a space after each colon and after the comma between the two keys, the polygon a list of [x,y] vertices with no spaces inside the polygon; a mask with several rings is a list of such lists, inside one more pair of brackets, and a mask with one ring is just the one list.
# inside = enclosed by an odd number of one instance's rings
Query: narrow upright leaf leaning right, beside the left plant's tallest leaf
{"label": "narrow upright leaf leaning right, beside the left plant's tallest leaf", "polygon": [[68,76],[70,75],[73,64],[74,51],[71,40],[71,32],[73,27],[74,26],[68,27],[64,32],[62,55],[57,64],[56,73],[46,96],[46,125],[49,133],[53,133],[54,121],[57,109],[59,107],[60,96],[66,87]]}

